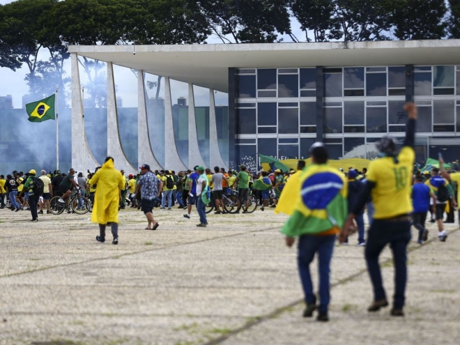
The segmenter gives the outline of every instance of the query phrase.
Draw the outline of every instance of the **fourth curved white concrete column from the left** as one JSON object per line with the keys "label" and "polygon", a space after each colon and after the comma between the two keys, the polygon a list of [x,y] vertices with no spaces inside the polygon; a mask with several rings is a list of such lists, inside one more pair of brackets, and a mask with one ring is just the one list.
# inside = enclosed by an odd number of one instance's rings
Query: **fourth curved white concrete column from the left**
{"label": "fourth curved white concrete column from the left", "polygon": [[182,162],[174,140],[172,118],[171,83],[164,77],[164,169],[181,171],[187,169]]}

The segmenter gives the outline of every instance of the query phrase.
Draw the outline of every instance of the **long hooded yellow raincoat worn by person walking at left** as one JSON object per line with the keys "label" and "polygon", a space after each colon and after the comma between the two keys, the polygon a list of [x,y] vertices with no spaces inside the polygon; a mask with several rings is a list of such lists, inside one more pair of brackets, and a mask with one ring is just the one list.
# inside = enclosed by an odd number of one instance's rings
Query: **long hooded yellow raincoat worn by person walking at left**
{"label": "long hooded yellow raincoat worn by person walking at left", "polygon": [[108,160],[102,164],[102,167],[89,181],[90,185],[95,185],[96,183],[91,222],[98,224],[118,223],[120,190],[125,188],[125,179],[121,172],[115,169],[113,160]]}

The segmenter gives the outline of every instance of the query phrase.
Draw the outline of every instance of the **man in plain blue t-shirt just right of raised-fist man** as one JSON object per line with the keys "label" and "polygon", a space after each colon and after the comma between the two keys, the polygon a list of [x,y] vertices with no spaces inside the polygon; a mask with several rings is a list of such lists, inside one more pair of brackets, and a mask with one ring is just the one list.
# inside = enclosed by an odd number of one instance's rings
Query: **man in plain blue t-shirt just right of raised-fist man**
{"label": "man in plain blue t-shirt just right of raised-fist man", "polygon": [[427,220],[427,212],[429,210],[429,198],[433,199],[433,204],[436,205],[436,196],[431,189],[423,183],[423,176],[415,176],[415,183],[412,186],[412,204],[413,204],[413,226],[418,230],[418,244],[422,244],[422,240],[428,239],[428,230],[425,229],[425,220]]}

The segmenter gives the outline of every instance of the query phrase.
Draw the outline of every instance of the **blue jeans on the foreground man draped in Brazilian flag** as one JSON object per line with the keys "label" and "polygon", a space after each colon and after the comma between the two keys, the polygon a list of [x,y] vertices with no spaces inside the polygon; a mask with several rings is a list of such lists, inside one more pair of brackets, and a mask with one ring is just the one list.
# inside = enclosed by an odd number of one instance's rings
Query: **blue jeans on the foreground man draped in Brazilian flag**
{"label": "blue jeans on the foreground man draped in Brazilian flag", "polygon": [[300,280],[302,282],[305,302],[309,305],[316,303],[316,296],[313,293],[312,276],[310,275],[310,263],[314,254],[318,253],[319,270],[319,312],[327,313],[330,301],[330,259],[334,250],[335,235],[330,236],[300,236],[298,241],[297,263]]}

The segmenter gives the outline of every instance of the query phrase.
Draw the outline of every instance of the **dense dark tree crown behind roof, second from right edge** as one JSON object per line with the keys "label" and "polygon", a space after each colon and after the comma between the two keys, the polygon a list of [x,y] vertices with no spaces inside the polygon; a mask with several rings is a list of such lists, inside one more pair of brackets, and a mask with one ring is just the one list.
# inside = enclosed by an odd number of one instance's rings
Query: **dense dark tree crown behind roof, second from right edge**
{"label": "dense dark tree crown behind roof, second from right edge", "polygon": [[401,0],[394,7],[394,36],[399,40],[438,40],[445,37],[444,1]]}

